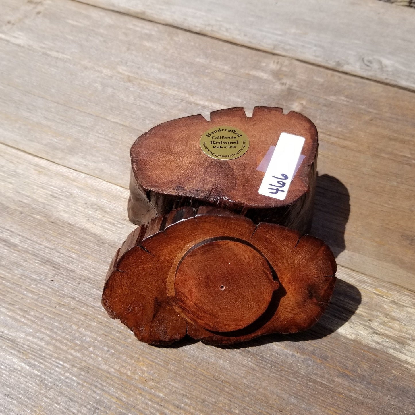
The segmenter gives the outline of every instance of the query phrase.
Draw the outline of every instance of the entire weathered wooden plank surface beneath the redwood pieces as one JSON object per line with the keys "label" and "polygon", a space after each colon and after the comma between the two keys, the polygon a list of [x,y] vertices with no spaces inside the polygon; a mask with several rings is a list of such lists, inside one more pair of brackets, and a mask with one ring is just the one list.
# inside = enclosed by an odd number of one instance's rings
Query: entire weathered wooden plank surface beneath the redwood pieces
{"label": "entire weathered wooden plank surface beneath the redwood pieces", "polygon": [[[0,0],[0,413],[414,414],[415,11],[376,0]],[[320,132],[311,330],[139,343],[100,305],[129,147],[281,106]]]}

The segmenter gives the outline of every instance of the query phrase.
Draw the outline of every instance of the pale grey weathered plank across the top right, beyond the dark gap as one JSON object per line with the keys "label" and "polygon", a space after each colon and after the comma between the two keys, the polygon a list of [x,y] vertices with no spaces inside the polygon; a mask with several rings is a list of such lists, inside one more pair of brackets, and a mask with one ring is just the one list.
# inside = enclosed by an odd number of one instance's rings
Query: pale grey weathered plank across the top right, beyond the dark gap
{"label": "pale grey weathered plank across the top right, beyond the dark gap", "polygon": [[415,16],[374,0],[77,1],[415,89]]}

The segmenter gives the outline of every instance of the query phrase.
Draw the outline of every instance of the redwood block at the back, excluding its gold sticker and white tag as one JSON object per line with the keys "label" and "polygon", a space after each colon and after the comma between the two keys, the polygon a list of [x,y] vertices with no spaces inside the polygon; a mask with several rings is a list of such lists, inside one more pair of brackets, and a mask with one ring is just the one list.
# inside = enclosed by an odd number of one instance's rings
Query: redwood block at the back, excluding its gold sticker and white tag
{"label": "redwood block at the back, excluding its gold sticker and white tag", "polygon": [[[247,152],[232,160],[217,160],[200,148],[200,137],[212,127],[227,125],[249,137]],[[305,156],[285,200],[258,193],[264,172],[257,167],[280,134],[305,137]],[[210,113],[210,121],[192,115],[160,124],[140,136],[131,148],[132,173],[128,213],[146,224],[156,215],[181,206],[213,206],[242,214],[255,223],[271,222],[306,233],[310,229],[317,164],[317,130],[297,112],[255,107]]]}

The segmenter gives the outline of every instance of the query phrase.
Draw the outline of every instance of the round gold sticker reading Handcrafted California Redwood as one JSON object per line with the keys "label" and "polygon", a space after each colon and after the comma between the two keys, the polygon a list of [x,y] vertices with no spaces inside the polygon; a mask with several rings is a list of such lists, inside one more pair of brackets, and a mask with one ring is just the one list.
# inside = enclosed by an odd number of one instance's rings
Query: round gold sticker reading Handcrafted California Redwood
{"label": "round gold sticker reading Handcrafted California Redwood", "polygon": [[249,138],[238,128],[221,125],[210,128],[202,134],[200,148],[214,159],[237,159],[247,152]]}

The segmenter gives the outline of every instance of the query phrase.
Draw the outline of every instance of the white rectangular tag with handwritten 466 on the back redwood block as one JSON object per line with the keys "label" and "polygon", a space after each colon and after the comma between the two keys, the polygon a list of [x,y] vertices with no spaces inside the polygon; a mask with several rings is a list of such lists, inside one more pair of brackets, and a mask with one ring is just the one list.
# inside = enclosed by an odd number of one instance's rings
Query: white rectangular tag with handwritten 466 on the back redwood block
{"label": "white rectangular tag with handwritten 466 on the back redwood block", "polygon": [[279,200],[287,197],[304,142],[304,137],[281,133],[259,187],[259,194]]}

